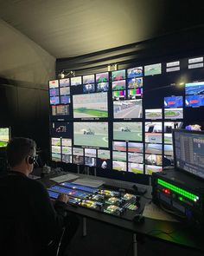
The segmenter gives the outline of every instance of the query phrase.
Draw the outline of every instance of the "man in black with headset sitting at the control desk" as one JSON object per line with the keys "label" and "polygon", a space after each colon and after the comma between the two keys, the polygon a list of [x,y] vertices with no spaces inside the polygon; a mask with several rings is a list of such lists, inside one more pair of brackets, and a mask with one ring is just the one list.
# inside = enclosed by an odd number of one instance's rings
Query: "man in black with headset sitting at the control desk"
{"label": "man in black with headset sitting at the control desk", "polygon": [[53,206],[46,187],[29,179],[36,158],[35,141],[14,138],[7,146],[10,171],[0,178],[0,252],[3,256],[46,256],[66,225],[68,197]]}

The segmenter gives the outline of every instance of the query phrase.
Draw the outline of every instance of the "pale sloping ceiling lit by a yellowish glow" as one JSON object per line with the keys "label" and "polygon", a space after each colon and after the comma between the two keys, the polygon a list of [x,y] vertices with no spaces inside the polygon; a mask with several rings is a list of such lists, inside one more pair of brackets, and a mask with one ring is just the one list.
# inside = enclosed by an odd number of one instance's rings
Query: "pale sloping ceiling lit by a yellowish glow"
{"label": "pale sloping ceiling lit by a yellowish glow", "polygon": [[196,6],[194,3],[191,0],[0,0],[0,18],[52,56],[61,58],[201,25],[204,4],[198,4],[200,0]]}

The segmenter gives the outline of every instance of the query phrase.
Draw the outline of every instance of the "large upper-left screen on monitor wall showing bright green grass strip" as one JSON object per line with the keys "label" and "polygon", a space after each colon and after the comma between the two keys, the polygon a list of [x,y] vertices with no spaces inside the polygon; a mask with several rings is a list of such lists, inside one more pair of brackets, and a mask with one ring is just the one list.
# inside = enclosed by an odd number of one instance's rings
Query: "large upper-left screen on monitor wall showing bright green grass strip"
{"label": "large upper-left screen on monitor wall showing bright green grass strip", "polygon": [[73,95],[73,118],[107,117],[107,93]]}

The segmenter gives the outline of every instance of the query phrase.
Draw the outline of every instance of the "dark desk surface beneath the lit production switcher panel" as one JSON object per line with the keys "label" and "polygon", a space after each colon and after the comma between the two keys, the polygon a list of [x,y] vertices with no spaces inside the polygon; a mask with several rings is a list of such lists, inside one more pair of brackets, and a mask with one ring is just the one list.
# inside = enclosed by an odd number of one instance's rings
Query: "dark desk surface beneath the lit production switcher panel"
{"label": "dark desk surface beneath the lit production switcher panel", "polygon": [[[86,177],[87,175],[77,174],[80,177]],[[88,178],[99,179],[105,181],[107,185],[121,185],[118,187],[130,188],[135,185],[131,182],[125,181],[112,181],[110,179],[105,179],[101,177],[88,176]],[[48,178],[43,178],[41,181],[48,187],[54,185],[54,181],[48,180]],[[150,197],[151,187],[137,184],[138,187],[146,187],[148,189],[145,196]],[[141,204],[143,205],[150,200],[141,197]],[[133,245],[134,245],[134,255],[137,255],[137,237],[146,236],[156,240],[162,240],[165,242],[173,243],[180,246],[185,246],[195,250],[204,252],[204,234],[199,233],[196,230],[190,230],[189,227],[184,223],[170,222],[164,220],[151,220],[145,218],[141,223],[133,222],[130,220],[124,220],[110,214],[100,213],[84,207],[74,207],[67,205],[67,209],[70,212],[80,214],[83,218],[90,218],[93,220],[98,220],[112,226],[118,226],[132,233]],[[85,219],[86,220],[86,219]],[[86,224],[86,223],[84,223]]]}

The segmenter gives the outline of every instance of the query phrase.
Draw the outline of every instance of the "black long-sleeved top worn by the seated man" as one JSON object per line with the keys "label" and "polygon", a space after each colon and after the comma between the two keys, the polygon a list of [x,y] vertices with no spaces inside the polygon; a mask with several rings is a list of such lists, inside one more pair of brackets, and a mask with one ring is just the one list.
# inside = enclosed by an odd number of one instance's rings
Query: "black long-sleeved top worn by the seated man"
{"label": "black long-sleeved top worn by the seated man", "polygon": [[19,172],[0,177],[0,252],[3,255],[46,255],[61,234],[66,204],[49,199],[40,181]]}

